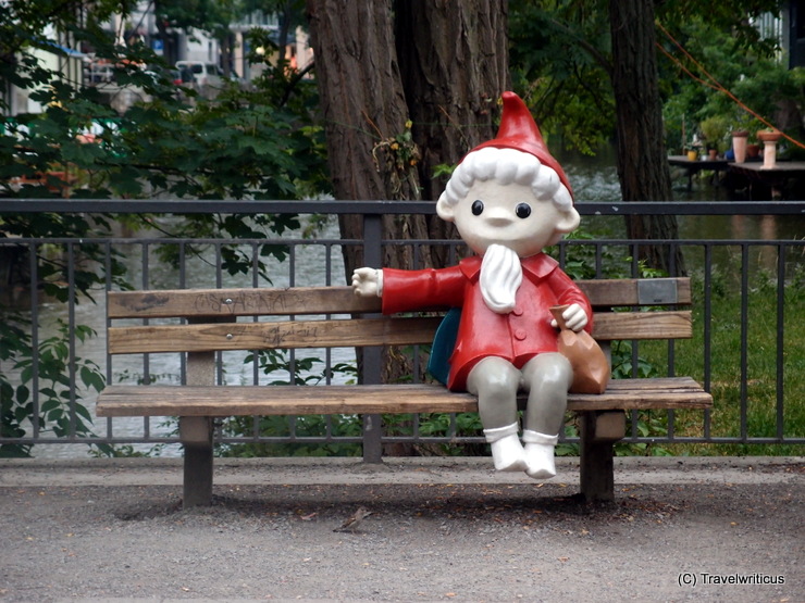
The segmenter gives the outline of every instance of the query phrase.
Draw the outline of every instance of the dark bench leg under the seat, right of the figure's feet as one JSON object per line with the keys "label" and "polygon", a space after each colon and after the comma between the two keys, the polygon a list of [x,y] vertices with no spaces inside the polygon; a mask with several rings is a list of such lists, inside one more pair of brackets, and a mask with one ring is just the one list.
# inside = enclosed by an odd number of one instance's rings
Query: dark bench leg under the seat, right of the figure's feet
{"label": "dark bench leg under the seat, right of the figure's feet", "polygon": [[626,436],[623,411],[581,414],[581,492],[587,502],[615,500],[612,445]]}

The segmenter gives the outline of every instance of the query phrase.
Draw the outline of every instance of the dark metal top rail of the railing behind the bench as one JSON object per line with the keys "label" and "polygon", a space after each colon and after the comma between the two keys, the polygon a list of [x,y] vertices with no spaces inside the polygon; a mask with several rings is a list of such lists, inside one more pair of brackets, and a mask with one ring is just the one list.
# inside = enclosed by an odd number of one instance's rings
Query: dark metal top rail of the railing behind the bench
{"label": "dark metal top rail of the railing behind the bench", "polygon": [[[805,215],[805,201],[584,201],[582,215]],[[0,213],[111,214],[424,214],[433,201],[335,201],[238,199],[0,199]]]}

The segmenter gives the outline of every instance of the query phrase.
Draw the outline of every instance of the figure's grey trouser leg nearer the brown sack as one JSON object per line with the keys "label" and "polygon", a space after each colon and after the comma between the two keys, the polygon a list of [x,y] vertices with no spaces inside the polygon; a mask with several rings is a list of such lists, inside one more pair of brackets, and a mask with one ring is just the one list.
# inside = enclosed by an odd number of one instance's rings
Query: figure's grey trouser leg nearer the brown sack
{"label": "figure's grey trouser leg nearer the brown sack", "polygon": [[523,388],[529,392],[524,429],[556,436],[565,423],[568,390],[573,369],[559,353],[545,353],[531,359],[522,370]]}

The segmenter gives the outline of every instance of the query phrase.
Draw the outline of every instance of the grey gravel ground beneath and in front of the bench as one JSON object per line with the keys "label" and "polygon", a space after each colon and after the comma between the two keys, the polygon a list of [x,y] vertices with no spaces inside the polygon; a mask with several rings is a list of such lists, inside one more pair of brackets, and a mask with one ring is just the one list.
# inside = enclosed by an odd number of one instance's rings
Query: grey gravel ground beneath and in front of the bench
{"label": "grey gravel ground beneath and in front of the bench", "polygon": [[190,511],[152,461],[0,465],[0,601],[805,601],[801,458],[642,462],[597,504],[445,460],[233,464]]}

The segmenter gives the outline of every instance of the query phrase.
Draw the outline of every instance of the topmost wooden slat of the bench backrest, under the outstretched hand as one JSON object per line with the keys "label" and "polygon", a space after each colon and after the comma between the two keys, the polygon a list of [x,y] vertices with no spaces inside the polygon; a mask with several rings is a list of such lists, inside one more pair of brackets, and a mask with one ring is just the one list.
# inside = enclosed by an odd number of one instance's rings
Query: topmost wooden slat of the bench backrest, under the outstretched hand
{"label": "topmost wooden slat of the bench backrest, under the outstretched hand", "polygon": [[[676,303],[691,303],[690,278],[651,279],[673,284]],[[579,287],[595,306],[667,305],[667,299],[641,300],[639,282],[646,279],[580,280]],[[176,289],[110,291],[110,318],[169,318],[172,316],[255,316],[356,314],[381,311],[380,298],[358,298],[350,287],[293,289]]]}

